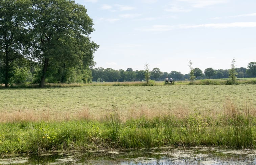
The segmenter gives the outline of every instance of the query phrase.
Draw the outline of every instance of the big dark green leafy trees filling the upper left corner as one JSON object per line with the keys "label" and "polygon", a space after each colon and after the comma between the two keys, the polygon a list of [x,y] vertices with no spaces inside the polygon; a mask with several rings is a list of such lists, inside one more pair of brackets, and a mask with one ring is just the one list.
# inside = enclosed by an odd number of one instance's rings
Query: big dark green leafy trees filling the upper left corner
{"label": "big dark green leafy trees filling the upper left corner", "polygon": [[89,66],[95,64],[93,53],[99,47],[90,40],[93,31],[85,6],[73,0],[2,0],[0,77],[5,86],[21,58],[37,63],[35,78],[40,87],[46,77],[68,82],[75,74],[72,81],[91,81]]}

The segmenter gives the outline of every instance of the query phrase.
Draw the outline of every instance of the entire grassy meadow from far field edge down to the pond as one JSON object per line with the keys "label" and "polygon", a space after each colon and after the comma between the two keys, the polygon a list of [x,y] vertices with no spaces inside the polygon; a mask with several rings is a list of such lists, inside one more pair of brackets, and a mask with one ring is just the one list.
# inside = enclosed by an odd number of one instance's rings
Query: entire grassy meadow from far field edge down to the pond
{"label": "entire grassy meadow from far field edge down to the pond", "polygon": [[106,85],[0,93],[0,153],[256,146],[255,85]]}

